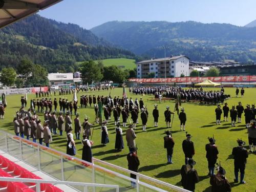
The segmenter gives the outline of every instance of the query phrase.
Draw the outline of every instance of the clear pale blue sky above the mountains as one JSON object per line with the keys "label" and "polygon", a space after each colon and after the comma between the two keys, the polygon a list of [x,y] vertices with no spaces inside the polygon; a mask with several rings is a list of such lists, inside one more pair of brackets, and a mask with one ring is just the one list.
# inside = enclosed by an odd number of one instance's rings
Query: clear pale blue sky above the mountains
{"label": "clear pale blue sky above the mountains", "polygon": [[91,29],[112,20],[227,23],[256,19],[256,0],[63,0],[41,16]]}

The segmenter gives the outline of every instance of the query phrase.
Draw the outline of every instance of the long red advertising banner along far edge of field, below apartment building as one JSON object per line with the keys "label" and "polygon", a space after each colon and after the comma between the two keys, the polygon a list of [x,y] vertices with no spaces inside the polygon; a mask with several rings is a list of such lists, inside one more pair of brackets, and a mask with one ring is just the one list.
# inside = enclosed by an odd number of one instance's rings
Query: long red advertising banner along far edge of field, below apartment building
{"label": "long red advertising banner along far edge of field, below apartment building", "polygon": [[[213,82],[256,82],[256,76],[242,75],[242,76],[220,76],[220,77],[176,77],[176,78],[151,78],[151,79],[129,79],[133,82],[145,82],[145,83],[184,83],[184,82],[203,82],[205,80],[211,80]],[[48,90],[47,87],[44,87]],[[32,91],[35,88],[32,88]],[[46,91],[47,91],[46,90]]]}

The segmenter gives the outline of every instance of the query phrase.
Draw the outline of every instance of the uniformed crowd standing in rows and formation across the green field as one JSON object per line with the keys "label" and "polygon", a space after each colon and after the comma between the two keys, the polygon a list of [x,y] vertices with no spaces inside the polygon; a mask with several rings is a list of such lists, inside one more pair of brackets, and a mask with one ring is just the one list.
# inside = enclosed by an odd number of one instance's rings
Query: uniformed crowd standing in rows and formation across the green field
{"label": "uniformed crowd standing in rows and formation across the green field", "polygon": [[[242,106],[242,103],[235,107],[232,106],[229,109],[227,103],[224,104],[223,108],[219,103],[224,103],[224,100],[228,97],[224,95],[224,89],[219,91],[203,91],[200,89],[190,89],[183,90],[181,88],[174,87],[135,87],[130,88],[129,91],[138,94],[153,94],[155,98],[161,98],[162,95],[167,98],[178,98],[185,99],[187,101],[197,99],[206,101],[208,104],[218,104],[215,110],[216,113],[216,124],[221,123],[221,115],[223,113],[224,121],[228,121],[228,117],[231,119],[231,126],[236,126],[237,123],[241,123],[242,114],[245,116],[245,123],[248,130],[248,140],[250,153],[256,153],[256,128],[255,128],[255,115],[256,110],[254,108],[254,104],[250,107],[247,105],[246,108]],[[244,91],[243,91],[244,94]],[[55,95],[55,94],[54,94]],[[60,95],[62,92],[60,91]],[[36,94],[36,97],[38,94]],[[39,96],[40,97],[40,96]],[[115,123],[115,132],[116,132],[116,141],[115,141],[115,149],[123,150],[124,142],[123,142],[123,130],[122,127],[127,126],[127,120],[129,118],[132,119],[132,122],[129,123],[129,127],[126,129],[125,139],[127,141],[127,146],[129,147],[129,154],[127,155],[128,166],[130,170],[134,172],[138,172],[139,167],[139,158],[137,156],[137,145],[135,142],[136,134],[135,131],[137,129],[136,125],[139,123],[139,120],[142,124],[142,131],[146,132],[146,126],[148,123],[149,113],[144,104],[142,98],[139,100],[136,98],[133,101],[132,98],[127,97],[119,97],[115,96],[112,98],[111,96],[100,96],[97,97],[95,95],[81,95],[80,96],[80,108],[87,108],[88,106],[94,106],[95,110],[95,123],[99,123],[99,101],[103,104],[103,117],[104,121],[100,123],[101,125],[101,144],[106,145],[110,142],[109,140],[109,132],[108,132],[108,124],[111,120],[111,117],[114,118]],[[26,104],[25,99],[22,97],[21,99],[22,107],[19,111],[16,112],[16,115],[13,119],[14,123],[14,132],[17,136],[25,137],[27,139],[32,138],[33,142],[38,142],[42,144],[42,141],[49,147],[49,143],[52,141],[52,134],[56,135],[59,132],[59,135],[62,136],[62,132],[65,131],[67,133],[67,154],[74,156],[76,155],[76,147],[75,140],[80,140],[80,134],[82,134],[81,142],[83,144],[82,150],[82,159],[88,162],[92,162],[92,151],[91,147],[93,145],[92,136],[93,130],[91,131],[92,123],[89,122],[87,116],[84,118],[84,121],[81,123],[79,119],[79,114],[77,113],[78,109],[78,101],[69,101],[68,99],[54,98],[53,102],[48,98],[37,98],[31,101],[34,109],[25,110]],[[53,109],[54,106],[54,109]],[[59,111],[57,107],[59,106]],[[70,115],[73,114],[76,116],[74,119],[74,134],[72,129],[72,119]],[[44,113],[44,123],[41,123],[38,118],[37,112]],[[57,112],[58,111],[58,112]],[[33,115],[32,115],[33,113]],[[172,127],[172,115],[174,115],[175,111],[172,112],[169,110],[169,106],[166,106],[166,110],[162,115],[164,115],[164,119],[166,122],[166,128],[169,129]],[[230,113],[230,115],[229,115]],[[113,114],[113,115],[112,115]],[[140,119],[139,119],[140,114]],[[57,116],[58,115],[58,116]],[[122,117],[122,122],[120,120],[120,116]],[[152,111],[152,116],[154,118],[154,126],[158,127],[158,119],[161,116],[161,112],[159,113],[158,105],[154,105],[154,110]],[[186,123],[186,113],[184,108],[181,108],[181,112],[178,114],[180,120],[180,131],[185,131],[185,123]],[[237,121],[238,119],[238,121]],[[121,124],[122,123],[122,124]],[[164,136],[164,148],[166,148],[166,157],[167,164],[174,163],[172,161],[173,157],[173,149],[175,146],[174,138],[172,136],[172,132],[166,131],[166,136]],[[90,140],[91,137],[91,140]],[[185,189],[190,191],[195,190],[195,184],[199,182],[197,170],[194,168],[196,165],[195,160],[193,160],[193,156],[195,155],[195,147],[194,142],[191,140],[191,135],[186,132],[186,139],[182,142],[182,149],[184,152],[184,165],[181,167],[181,176],[182,176],[182,186]],[[209,143],[205,145],[206,158],[208,161],[208,176],[210,176],[210,184],[212,185],[212,191],[231,191],[231,186],[229,181],[225,177],[225,169],[217,163],[218,159],[218,147],[216,145],[216,140],[214,137],[208,138]],[[245,142],[241,139],[237,140],[238,145],[234,147],[232,150],[232,155],[234,158],[234,182],[240,182],[241,184],[245,183],[244,175],[245,175],[245,164],[246,158],[248,158],[248,152],[246,148],[244,148]],[[217,164],[217,174],[215,175],[215,166]],[[238,178],[238,174],[240,172],[240,179]],[[136,175],[131,174],[131,177],[136,179]],[[132,182],[132,186],[136,187],[136,184]]]}

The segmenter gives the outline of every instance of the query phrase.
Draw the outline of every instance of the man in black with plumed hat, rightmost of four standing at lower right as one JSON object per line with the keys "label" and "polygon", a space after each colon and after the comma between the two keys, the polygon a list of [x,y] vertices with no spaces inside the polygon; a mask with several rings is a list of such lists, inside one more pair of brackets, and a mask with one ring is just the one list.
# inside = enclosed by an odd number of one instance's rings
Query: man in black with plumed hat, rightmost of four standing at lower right
{"label": "man in black with plumed hat, rightmost of four standing at lower right", "polygon": [[240,171],[240,184],[244,184],[244,170],[245,170],[245,164],[246,164],[246,158],[248,158],[248,152],[246,148],[243,146],[245,145],[245,142],[241,139],[237,140],[238,145],[237,147],[233,147],[232,155],[234,159],[234,182],[238,183],[238,173]]}

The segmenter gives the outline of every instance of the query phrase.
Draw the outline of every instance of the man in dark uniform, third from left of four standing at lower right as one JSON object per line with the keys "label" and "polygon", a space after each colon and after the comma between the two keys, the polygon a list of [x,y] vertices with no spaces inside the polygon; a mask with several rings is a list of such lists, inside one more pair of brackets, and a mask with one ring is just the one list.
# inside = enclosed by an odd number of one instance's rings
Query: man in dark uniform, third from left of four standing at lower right
{"label": "man in dark uniform, third from left of four standing at lower right", "polygon": [[206,158],[208,161],[208,169],[209,173],[208,176],[214,175],[214,168],[215,164],[218,159],[218,148],[217,145],[215,144],[215,139],[214,138],[208,138],[209,143],[205,145],[205,151],[206,151]]}

